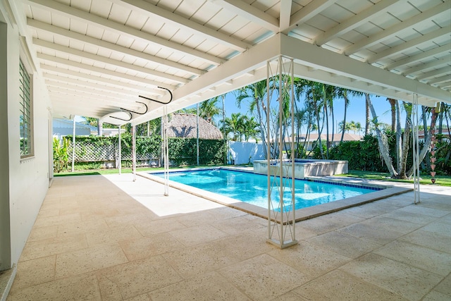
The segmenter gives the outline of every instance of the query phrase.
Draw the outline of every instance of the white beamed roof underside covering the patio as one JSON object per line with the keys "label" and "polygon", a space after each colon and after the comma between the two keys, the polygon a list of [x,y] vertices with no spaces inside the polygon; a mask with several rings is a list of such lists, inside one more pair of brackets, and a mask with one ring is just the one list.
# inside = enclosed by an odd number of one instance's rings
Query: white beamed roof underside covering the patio
{"label": "white beamed roof underside covering the patio", "polygon": [[[23,0],[16,20],[54,116],[123,109],[142,123],[266,78],[295,75],[435,106],[451,102],[449,0]],[[20,16],[15,13],[13,15]],[[162,89],[164,88],[164,89]],[[165,90],[167,89],[167,90]],[[148,101],[140,96],[159,102]]]}

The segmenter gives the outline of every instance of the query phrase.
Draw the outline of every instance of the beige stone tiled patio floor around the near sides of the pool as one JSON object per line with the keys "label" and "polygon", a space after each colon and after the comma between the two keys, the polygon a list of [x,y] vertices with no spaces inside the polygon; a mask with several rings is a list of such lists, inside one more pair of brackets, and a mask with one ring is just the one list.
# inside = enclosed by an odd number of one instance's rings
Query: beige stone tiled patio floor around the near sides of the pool
{"label": "beige stone tiled patio floor around the near sides of the pool", "polygon": [[55,178],[7,300],[451,300],[450,188],[299,222],[278,250],[264,219],[131,179]]}

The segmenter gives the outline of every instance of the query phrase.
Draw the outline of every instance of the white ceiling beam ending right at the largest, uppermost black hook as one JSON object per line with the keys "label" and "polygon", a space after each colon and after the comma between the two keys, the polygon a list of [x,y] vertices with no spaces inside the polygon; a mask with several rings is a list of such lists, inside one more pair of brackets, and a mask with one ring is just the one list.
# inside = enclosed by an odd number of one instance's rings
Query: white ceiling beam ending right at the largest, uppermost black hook
{"label": "white ceiling beam ending right at the largest, uppermost black hook", "polygon": [[[49,65],[46,65],[43,63],[40,65],[40,67],[42,70],[48,70],[48,71],[54,72],[56,74],[65,74],[65,75],[70,75],[75,78],[83,78],[85,80],[89,80],[90,82],[101,82],[101,83],[107,84],[108,85],[107,87],[111,87],[111,85],[113,85],[114,87],[127,88],[127,90],[130,90],[130,91],[142,92],[142,93],[147,93],[147,94],[150,93],[150,94],[154,94],[154,95],[158,95],[158,96],[162,96],[163,94],[165,94],[163,92],[163,90],[161,90],[161,89],[153,90],[153,89],[149,89],[147,87],[133,85],[133,84],[130,84],[129,82],[121,82],[119,80],[113,80],[111,78],[101,78],[99,76],[89,75],[89,74],[77,72],[74,70],[68,70],[68,69],[64,69],[64,68],[49,66]],[[50,73],[44,72],[44,77],[46,77],[47,75],[50,75]],[[51,75],[54,75],[54,74],[51,74]],[[54,76],[58,77],[58,75],[54,75]],[[64,78],[64,77],[61,77],[61,78]],[[118,76],[116,76],[116,78],[118,78]],[[66,78],[64,78],[64,79],[66,79]],[[127,80],[127,78],[123,78],[123,79]]]}

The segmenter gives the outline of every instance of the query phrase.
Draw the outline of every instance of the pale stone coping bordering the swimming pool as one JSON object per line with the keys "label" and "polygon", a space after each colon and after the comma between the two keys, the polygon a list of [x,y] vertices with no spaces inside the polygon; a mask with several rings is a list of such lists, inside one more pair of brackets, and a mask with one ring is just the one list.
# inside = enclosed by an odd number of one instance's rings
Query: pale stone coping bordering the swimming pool
{"label": "pale stone coping bordering the swimming pool", "polygon": [[[252,173],[252,168],[234,168],[234,167],[199,167],[199,168],[180,168],[180,169],[171,169],[170,172],[183,172],[183,171],[199,171],[199,170],[208,170],[214,168],[228,169],[234,171],[247,171]],[[143,178],[147,178],[149,180],[154,180],[157,183],[164,184],[165,181],[163,178],[158,176],[153,176],[152,173],[162,173],[162,171],[154,171],[154,172],[138,172],[137,176],[142,176]],[[367,204],[369,202],[377,201],[378,199],[385,199],[386,197],[393,197],[395,195],[400,195],[405,192],[412,191],[412,188],[403,188],[403,187],[395,187],[393,185],[385,185],[381,183],[372,183],[366,181],[364,179],[359,178],[333,178],[333,177],[309,177],[304,180],[320,180],[323,183],[331,183],[331,184],[345,184],[345,185],[357,185],[357,186],[366,186],[366,187],[376,187],[383,188],[382,190],[375,190],[374,192],[369,192],[364,195],[358,195],[356,197],[349,197],[347,199],[339,199],[335,202],[330,202],[326,204],[319,204],[312,207],[302,208],[295,210],[295,222],[304,221],[306,219],[313,219],[314,217],[321,216],[324,214],[330,214],[335,211],[340,211],[342,209],[347,209],[350,207],[359,206],[361,204]],[[233,199],[231,197],[225,197],[223,195],[218,195],[214,192],[209,192],[206,190],[202,190],[200,188],[195,188],[190,185],[185,185],[182,183],[177,183],[172,180],[168,180],[168,185],[171,188],[175,188],[178,190],[182,190],[184,192],[190,193],[191,195],[196,195],[197,197],[202,197],[204,199],[208,199],[212,202],[216,202],[218,204],[222,204],[227,207],[232,207],[234,209],[238,209],[241,211],[245,211],[248,214],[252,214],[254,216],[259,216],[264,219],[268,219],[268,209],[262,208],[253,204],[249,204],[246,202],[241,202],[237,199]],[[170,192],[171,193],[171,192]],[[271,221],[281,222],[281,217],[284,217],[283,223],[286,223],[285,214],[282,216],[280,212],[276,214],[276,217],[271,216]],[[292,219],[292,214],[290,214],[290,219]],[[290,221],[291,222],[291,221]]]}

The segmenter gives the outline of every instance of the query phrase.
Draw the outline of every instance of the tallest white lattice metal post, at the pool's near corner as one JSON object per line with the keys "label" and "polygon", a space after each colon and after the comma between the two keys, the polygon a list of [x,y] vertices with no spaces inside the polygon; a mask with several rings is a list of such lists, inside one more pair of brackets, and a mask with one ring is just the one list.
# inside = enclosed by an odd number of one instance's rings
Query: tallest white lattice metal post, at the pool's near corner
{"label": "tallest white lattice metal post, at the pool's near corner", "polygon": [[[273,70],[276,66],[275,70]],[[294,154],[294,64],[291,58],[278,56],[266,63],[268,137],[268,242],[283,249],[297,245],[295,233],[295,154]],[[278,95],[273,94],[277,92]],[[278,102],[274,104],[271,102]],[[272,115],[272,110],[278,113]],[[291,123],[291,128],[288,125]],[[290,157],[284,159],[285,142]]]}

